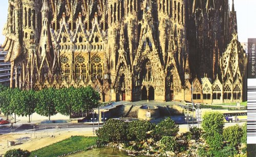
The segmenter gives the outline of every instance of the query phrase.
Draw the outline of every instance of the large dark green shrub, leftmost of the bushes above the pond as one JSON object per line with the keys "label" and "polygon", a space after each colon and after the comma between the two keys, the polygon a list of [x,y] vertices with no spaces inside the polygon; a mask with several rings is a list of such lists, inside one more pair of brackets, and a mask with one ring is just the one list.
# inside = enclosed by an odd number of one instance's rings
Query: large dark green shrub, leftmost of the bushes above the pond
{"label": "large dark green shrub, leftmost of the bushes above the pond", "polygon": [[120,120],[110,119],[97,131],[97,144],[123,141],[126,139],[127,124]]}

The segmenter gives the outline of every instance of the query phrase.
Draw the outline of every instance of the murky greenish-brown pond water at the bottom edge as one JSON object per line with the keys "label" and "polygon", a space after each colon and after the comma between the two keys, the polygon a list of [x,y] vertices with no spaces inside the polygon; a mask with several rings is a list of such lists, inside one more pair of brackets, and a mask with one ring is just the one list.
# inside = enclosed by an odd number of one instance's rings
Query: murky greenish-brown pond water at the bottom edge
{"label": "murky greenish-brown pond water at the bottom edge", "polygon": [[125,151],[121,151],[117,148],[99,148],[99,149],[91,149],[87,151],[81,151],[78,153],[74,153],[68,155],[69,157],[114,157],[114,156],[128,156],[128,153]]}

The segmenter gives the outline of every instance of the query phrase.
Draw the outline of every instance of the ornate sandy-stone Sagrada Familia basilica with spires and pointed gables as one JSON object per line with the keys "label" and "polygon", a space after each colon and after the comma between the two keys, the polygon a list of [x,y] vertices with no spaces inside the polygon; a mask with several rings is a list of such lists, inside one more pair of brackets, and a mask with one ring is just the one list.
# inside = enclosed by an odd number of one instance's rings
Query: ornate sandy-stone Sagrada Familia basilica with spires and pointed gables
{"label": "ornate sandy-stone Sagrada Familia basilica with spires and pointed gables", "polygon": [[241,102],[228,0],[9,0],[11,87],[90,85],[102,101]]}

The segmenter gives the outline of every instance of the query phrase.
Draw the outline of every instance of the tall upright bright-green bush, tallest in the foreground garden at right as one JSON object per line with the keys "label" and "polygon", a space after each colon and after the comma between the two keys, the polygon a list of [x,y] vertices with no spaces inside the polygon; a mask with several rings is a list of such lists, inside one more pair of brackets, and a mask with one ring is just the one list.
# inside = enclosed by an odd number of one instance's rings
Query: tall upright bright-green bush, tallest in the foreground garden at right
{"label": "tall upright bright-green bush, tallest in the foreground garden at right", "polygon": [[202,128],[204,138],[210,148],[219,150],[223,145],[223,114],[218,111],[206,112],[203,115]]}

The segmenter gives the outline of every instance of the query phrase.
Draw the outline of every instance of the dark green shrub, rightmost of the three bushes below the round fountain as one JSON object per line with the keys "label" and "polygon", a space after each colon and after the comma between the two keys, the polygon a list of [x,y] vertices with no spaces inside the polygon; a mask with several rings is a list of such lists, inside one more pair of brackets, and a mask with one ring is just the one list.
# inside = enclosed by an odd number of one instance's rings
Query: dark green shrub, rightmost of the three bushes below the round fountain
{"label": "dark green shrub, rightmost of the three bushes below the round fountain", "polygon": [[176,125],[175,122],[169,117],[165,120],[162,120],[156,125],[156,135],[157,136],[175,136],[179,131],[179,125]]}

